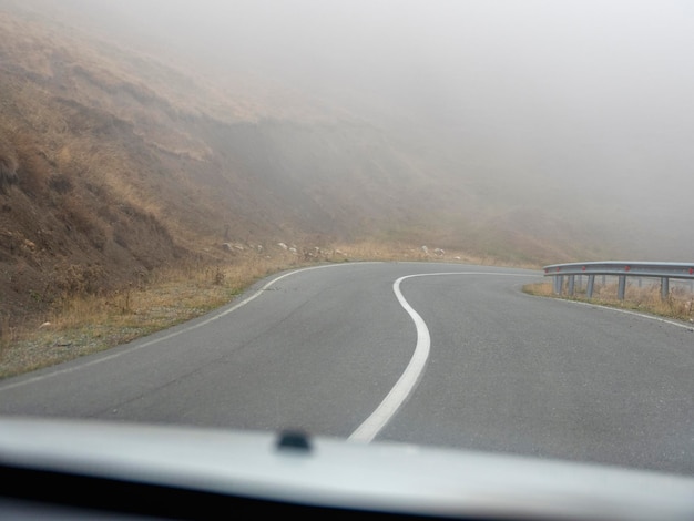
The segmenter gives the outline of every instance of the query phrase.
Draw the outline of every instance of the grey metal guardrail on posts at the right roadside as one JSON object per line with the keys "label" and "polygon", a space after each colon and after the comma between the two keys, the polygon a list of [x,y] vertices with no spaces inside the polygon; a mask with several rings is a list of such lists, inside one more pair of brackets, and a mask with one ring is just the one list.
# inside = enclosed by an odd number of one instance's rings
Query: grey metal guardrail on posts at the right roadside
{"label": "grey metal guardrail on posts at the right roadside", "polygon": [[551,264],[544,266],[544,276],[554,277],[553,290],[555,295],[562,294],[564,277],[568,279],[567,290],[573,295],[575,290],[575,277],[588,276],[585,295],[592,298],[595,287],[595,275],[618,277],[618,298],[624,300],[626,277],[651,277],[661,279],[661,298],[666,299],[670,295],[670,279],[694,280],[693,263],[645,263],[627,260],[605,260],[591,263]]}

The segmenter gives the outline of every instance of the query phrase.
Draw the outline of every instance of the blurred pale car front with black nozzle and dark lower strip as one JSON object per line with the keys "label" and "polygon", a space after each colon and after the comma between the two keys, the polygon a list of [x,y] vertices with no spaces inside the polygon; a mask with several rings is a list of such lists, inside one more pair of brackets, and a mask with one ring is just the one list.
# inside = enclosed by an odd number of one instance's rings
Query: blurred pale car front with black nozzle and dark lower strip
{"label": "blurred pale car front with black nozzle and dark lower strip", "polygon": [[310,437],[0,418],[2,519],[692,520],[694,478]]}

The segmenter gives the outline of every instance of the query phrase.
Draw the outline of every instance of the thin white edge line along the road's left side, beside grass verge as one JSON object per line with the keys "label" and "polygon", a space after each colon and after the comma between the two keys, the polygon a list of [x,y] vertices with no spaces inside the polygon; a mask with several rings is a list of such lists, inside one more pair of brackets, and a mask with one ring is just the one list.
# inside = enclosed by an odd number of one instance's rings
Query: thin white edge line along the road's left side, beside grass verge
{"label": "thin white edge line along the road's left side, beside grass verge", "polygon": [[[359,263],[359,264],[367,264],[367,263]],[[228,309],[225,309],[224,311],[218,313],[218,314],[216,314],[216,315],[214,315],[214,316],[212,316],[212,317],[210,317],[210,318],[207,318],[207,319],[205,319],[203,321],[200,321],[200,323],[197,323],[195,325],[192,325],[192,326],[188,326],[188,327],[184,327],[183,329],[178,329],[177,331],[170,333],[169,335],[164,335],[163,337],[154,338],[154,339],[145,341],[143,344],[137,344],[137,345],[135,345],[135,346],[133,346],[133,347],[131,347],[129,349],[124,349],[122,351],[113,353],[111,355],[104,356],[102,358],[98,358],[98,359],[92,360],[92,361],[80,364],[78,366],[68,367],[65,369],[60,369],[60,370],[47,372],[45,375],[34,376],[32,378],[28,378],[25,380],[16,381],[13,384],[9,384],[9,385],[6,385],[6,386],[0,385],[0,392],[2,392],[4,390],[9,390],[9,389],[14,389],[17,387],[21,387],[21,386],[24,386],[27,384],[33,384],[33,382],[37,382],[37,381],[45,380],[48,378],[53,378],[54,376],[58,376],[58,375],[65,375],[65,374],[72,372],[72,371],[84,369],[86,367],[95,366],[96,364],[101,364],[101,362],[106,361],[106,360],[112,360],[113,358],[118,358],[118,357],[126,355],[129,353],[133,353],[133,351],[143,349],[145,347],[149,347],[149,346],[151,346],[153,344],[157,344],[160,341],[169,340],[170,338],[173,338],[175,336],[182,335],[182,334],[187,333],[187,331],[192,331],[193,329],[197,329],[198,327],[206,326],[211,321],[217,320],[217,319],[222,318],[223,316],[228,315],[229,313],[235,311],[239,307],[245,306],[251,300],[254,300],[255,298],[261,296],[263,294],[263,292],[268,289],[273,284],[278,283],[283,278],[286,278],[286,277],[288,277],[290,275],[295,275],[297,273],[303,273],[303,272],[309,272],[312,269],[320,269],[320,268],[335,267],[335,266],[354,266],[354,265],[355,264],[324,264],[324,265],[320,265],[320,266],[309,266],[309,267],[306,267],[306,268],[299,268],[299,269],[295,269],[293,272],[285,273],[284,275],[280,275],[280,276],[278,276],[276,278],[273,278],[267,284],[265,284],[261,289],[255,292],[249,297],[244,298],[238,304],[236,304],[236,305],[229,307]]]}

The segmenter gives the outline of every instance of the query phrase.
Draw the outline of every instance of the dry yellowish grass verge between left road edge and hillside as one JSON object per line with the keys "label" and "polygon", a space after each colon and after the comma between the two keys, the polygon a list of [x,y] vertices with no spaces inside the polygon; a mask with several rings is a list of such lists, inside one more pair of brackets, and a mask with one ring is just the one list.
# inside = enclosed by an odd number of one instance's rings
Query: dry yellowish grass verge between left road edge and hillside
{"label": "dry yellowish grass verge between left road edge and hillside", "polygon": [[[295,264],[296,265],[296,264]],[[0,378],[134,340],[215,309],[255,280],[292,266],[248,255],[229,265],[186,265],[106,296],[67,295],[40,327],[0,321]]]}

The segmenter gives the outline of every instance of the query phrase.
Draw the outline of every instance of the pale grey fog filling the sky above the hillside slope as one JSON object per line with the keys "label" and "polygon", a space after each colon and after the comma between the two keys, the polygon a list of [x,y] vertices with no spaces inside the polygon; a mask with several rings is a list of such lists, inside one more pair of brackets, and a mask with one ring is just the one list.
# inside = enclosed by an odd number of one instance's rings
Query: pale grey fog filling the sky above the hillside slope
{"label": "pale grey fog filling the sky above the hillside slope", "polygon": [[693,2],[71,1],[131,45],[483,151],[478,175],[519,197],[551,186],[535,203],[690,242]]}

